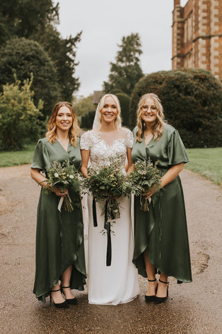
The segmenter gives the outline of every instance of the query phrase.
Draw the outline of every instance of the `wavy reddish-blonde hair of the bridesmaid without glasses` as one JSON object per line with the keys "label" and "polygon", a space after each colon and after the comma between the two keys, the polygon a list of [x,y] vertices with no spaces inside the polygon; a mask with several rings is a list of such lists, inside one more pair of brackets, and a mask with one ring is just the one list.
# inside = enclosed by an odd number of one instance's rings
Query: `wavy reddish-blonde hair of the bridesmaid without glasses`
{"label": "wavy reddish-blonde hair of the bridesmaid without glasses", "polygon": [[78,120],[76,118],[76,114],[74,109],[69,102],[58,102],[53,106],[53,111],[51,114],[51,118],[49,118],[49,122],[47,124],[48,132],[46,132],[46,138],[49,143],[53,144],[56,141],[56,116],[58,115],[58,111],[62,106],[67,106],[71,111],[71,116],[73,119],[72,126],[69,129],[69,140],[71,145],[76,146],[77,136],[80,134],[80,127],[78,126]]}

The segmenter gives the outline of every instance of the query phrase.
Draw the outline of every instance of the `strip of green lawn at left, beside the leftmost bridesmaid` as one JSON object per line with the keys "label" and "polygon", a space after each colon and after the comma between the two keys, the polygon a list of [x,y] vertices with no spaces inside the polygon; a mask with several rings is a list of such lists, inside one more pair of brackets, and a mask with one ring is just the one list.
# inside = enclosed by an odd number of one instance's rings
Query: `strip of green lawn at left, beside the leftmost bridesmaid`
{"label": "strip of green lawn at left, beside the leftmost bridesmaid", "polygon": [[31,164],[34,150],[35,145],[29,144],[23,151],[0,152],[0,167]]}

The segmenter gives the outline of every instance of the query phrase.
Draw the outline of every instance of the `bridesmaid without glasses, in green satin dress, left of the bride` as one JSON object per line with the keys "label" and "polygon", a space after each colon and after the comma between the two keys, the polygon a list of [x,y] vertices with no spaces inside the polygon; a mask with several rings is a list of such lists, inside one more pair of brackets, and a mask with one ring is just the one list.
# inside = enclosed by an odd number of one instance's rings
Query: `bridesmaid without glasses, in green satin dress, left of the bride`
{"label": "bridesmaid without glasses, in green satin dress, left of the bride", "polygon": [[[77,169],[81,166],[78,122],[69,102],[58,102],[48,123],[46,138],[36,145],[31,165],[31,177],[47,186],[45,172],[51,162],[69,159]],[[41,182],[41,183],[40,183]],[[76,305],[71,289],[82,291],[85,285],[85,253],[83,216],[80,207],[74,211],[58,211],[58,202],[68,189],[53,189],[46,194],[41,189],[37,207],[36,264],[34,294],[45,303],[51,296],[57,308]],[[80,196],[79,196],[80,200]],[[60,283],[59,283],[60,281]]]}

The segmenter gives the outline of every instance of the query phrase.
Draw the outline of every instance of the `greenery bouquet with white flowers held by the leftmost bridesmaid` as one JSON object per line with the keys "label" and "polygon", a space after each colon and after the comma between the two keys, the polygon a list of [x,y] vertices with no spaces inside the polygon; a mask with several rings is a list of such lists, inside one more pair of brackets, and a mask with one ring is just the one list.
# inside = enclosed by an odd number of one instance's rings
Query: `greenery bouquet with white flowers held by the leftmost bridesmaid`
{"label": "greenery bouquet with white flowers held by the leftmost bridesmaid", "polygon": [[[45,193],[52,193],[53,189],[59,188],[61,191],[68,189],[67,196],[61,197],[58,204],[60,211],[62,203],[64,203],[65,210],[71,212],[75,205],[80,207],[80,181],[78,180],[78,170],[74,165],[69,163],[69,160],[64,162],[53,161],[51,167],[46,170],[46,177],[48,180],[47,186],[44,187]],[[70,197],[71,196],[71,197]],[[74,203],[71,201],[74,200]]]}

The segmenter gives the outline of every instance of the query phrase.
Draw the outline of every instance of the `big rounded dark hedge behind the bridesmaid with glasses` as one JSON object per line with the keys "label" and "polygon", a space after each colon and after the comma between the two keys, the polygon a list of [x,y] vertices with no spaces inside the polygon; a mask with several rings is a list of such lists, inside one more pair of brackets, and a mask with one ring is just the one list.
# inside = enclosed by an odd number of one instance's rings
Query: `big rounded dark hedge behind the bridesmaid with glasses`
{"label": "big rounded dark hedge behind the bridesmaid with glasses", "polygon": [[130,104],[130,126],[135,126],[139,98],[160,97],[169,124],[189,148],[222,146],[222,86],[206,70],[182,69],[148,74],[136,84]]}

